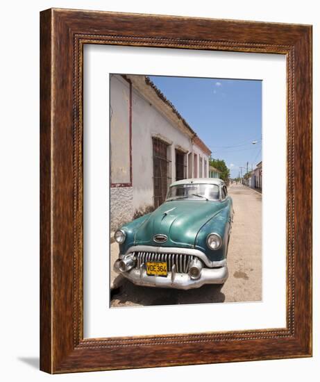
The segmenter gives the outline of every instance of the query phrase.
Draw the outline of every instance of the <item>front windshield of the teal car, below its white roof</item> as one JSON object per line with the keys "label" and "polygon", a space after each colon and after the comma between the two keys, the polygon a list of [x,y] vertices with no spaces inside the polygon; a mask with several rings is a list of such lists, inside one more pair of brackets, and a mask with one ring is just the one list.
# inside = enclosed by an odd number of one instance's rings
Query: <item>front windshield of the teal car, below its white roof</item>
{"label": "front windshield of the teal car, below its white roof", "polygon": [[219,185],[196,183],[172,185],[167,200],[176,199],[219,200]]}

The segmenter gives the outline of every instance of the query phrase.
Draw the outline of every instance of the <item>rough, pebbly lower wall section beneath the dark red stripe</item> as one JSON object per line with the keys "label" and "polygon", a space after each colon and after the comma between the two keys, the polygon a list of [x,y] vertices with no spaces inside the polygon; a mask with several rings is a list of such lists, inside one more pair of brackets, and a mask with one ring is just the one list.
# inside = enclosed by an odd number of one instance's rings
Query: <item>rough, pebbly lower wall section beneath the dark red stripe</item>
{"label": "rough, pebbly lower wall section beneath the dark red stripe", "polygon": [[121,225],[133,218],[133,188],[110,188],[110,231],[114,232]]}

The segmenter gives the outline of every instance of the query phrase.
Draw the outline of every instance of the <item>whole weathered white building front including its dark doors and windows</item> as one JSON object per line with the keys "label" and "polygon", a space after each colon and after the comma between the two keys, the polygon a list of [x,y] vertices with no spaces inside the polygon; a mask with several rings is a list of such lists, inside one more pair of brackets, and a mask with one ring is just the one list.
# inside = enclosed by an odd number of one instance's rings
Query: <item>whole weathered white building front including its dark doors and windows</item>
{"label": "whole weathered white building front including its dark doors and windows", "polygon": [[146,76],[110,76],[110,228],[165,200],[169,184],[209,176],[210,149]]}

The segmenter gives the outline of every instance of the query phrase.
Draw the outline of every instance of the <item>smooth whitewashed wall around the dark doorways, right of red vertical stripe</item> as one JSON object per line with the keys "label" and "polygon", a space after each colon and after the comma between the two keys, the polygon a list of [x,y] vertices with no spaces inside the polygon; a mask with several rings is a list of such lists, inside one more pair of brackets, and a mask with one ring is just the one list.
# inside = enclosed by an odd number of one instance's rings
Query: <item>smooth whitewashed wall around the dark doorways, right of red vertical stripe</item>
{"label": "smooth whitewashed wall around the dark doorways, right of red vertical stripe", "polygon": [[171,177],[176,178],[175,146],[191,151],[191,140],[133,88],[133,205],[135,210],[153,206],[152,137],[171,142]]}

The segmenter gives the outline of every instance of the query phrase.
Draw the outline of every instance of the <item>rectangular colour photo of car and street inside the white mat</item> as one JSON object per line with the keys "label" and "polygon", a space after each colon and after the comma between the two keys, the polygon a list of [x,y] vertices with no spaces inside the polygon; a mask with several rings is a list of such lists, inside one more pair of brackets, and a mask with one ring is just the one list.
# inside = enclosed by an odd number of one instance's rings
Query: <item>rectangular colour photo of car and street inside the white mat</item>
{"label": "rectangular colour photo of car and street inside the white mat", "polygon": [[262,301],[262,81],[109,84],[110,307]]}

